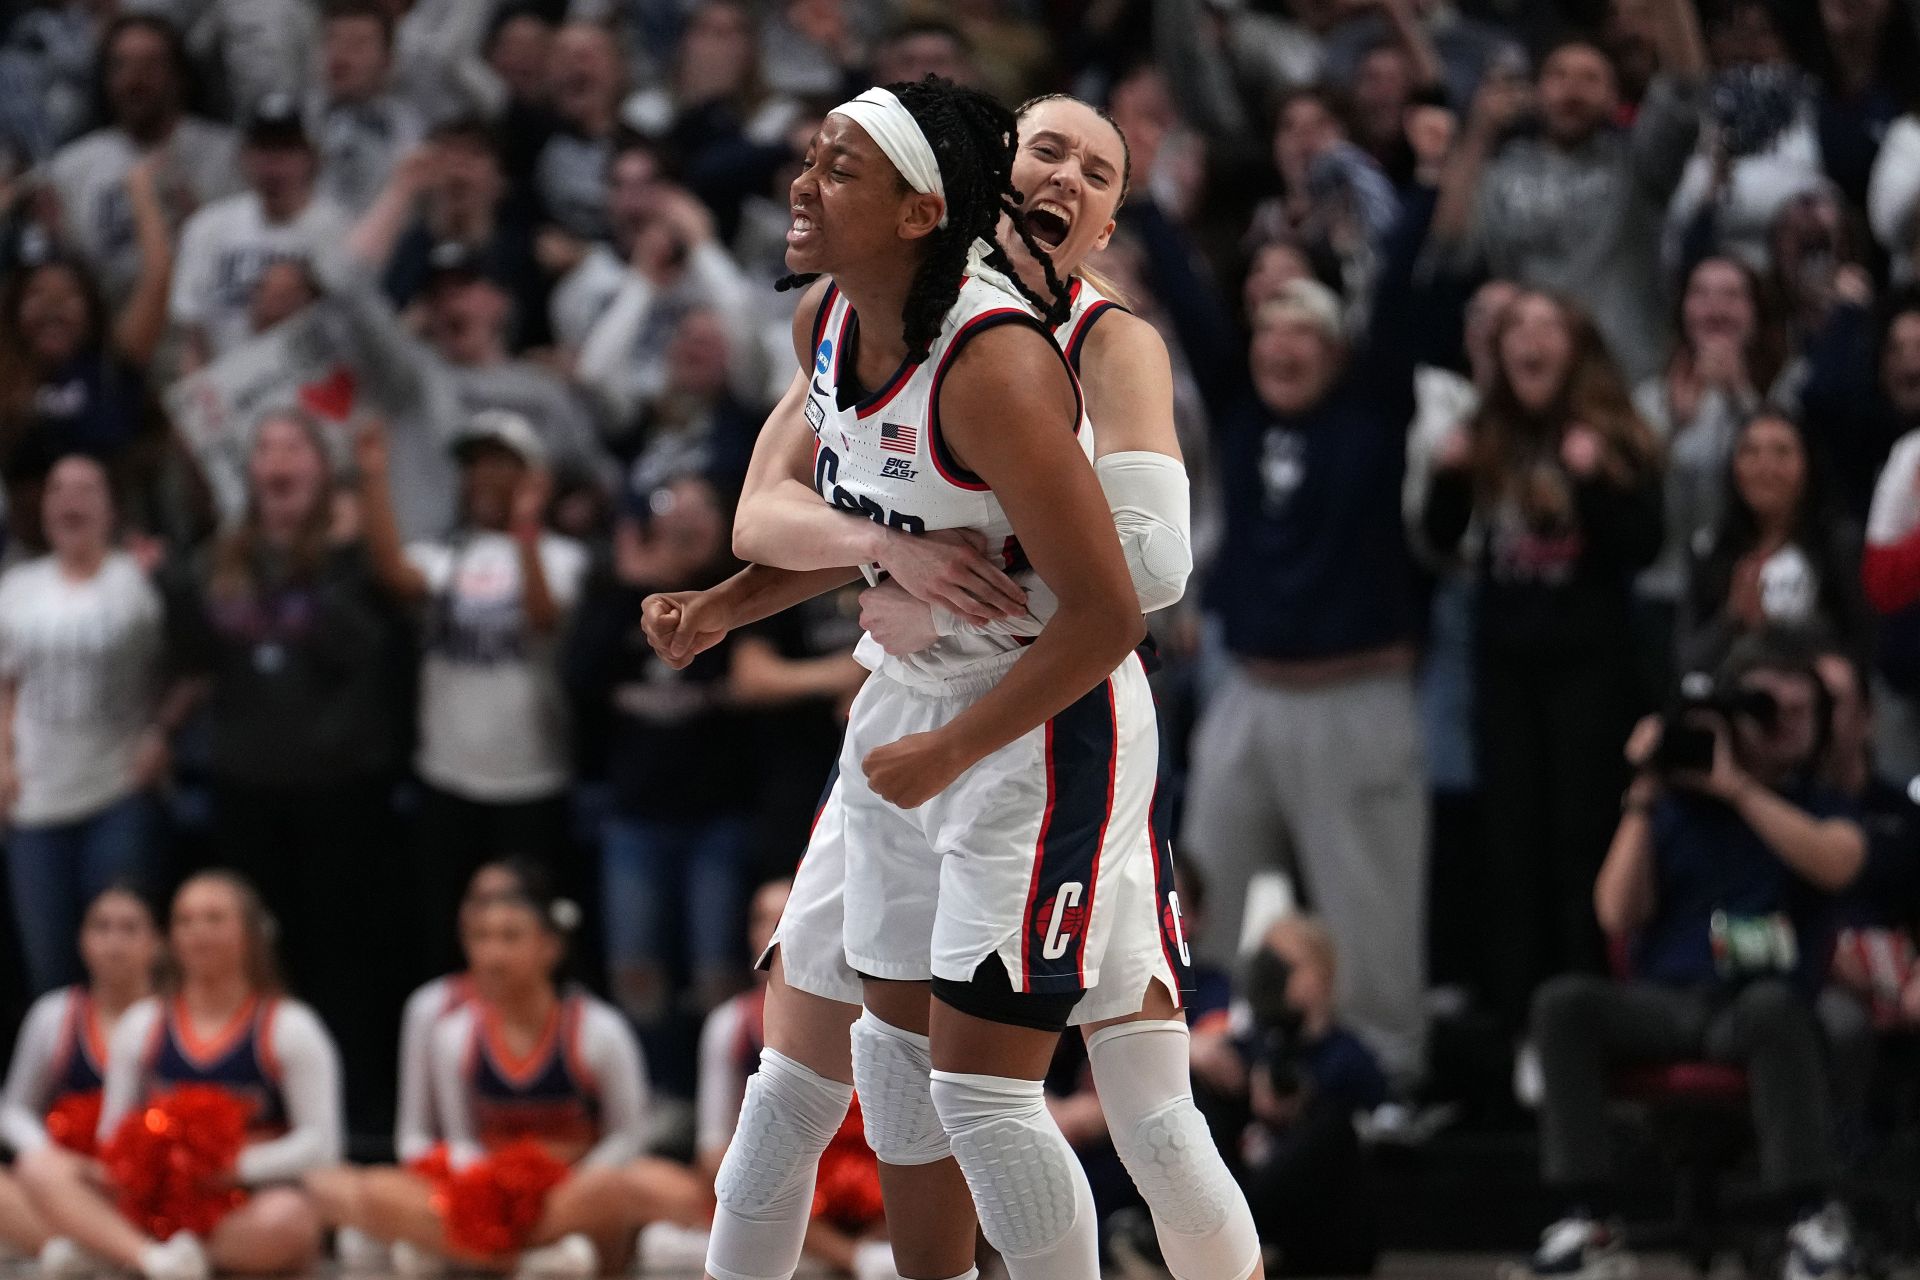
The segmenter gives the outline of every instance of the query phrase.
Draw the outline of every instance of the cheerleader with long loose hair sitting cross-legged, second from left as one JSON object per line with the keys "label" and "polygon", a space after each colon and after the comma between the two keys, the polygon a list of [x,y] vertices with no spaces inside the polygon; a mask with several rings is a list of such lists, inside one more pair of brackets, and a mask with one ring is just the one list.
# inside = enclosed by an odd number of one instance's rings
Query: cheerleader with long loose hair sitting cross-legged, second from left
{"label": "cheerleader with long loose hair sitting cross-legged, second from left", "polygon": [[[298,1180],[340,1159],[340,1059],[313,1011],[280,992],[273,919],[240,877],[204,871],[173,898],[171,969],[159,992],[134,1004],[108,1040],[100,1140],[111,1144],[136,1111],[159,1115],[165,1096],[207,1086],[246,1117],[246,1138],[213,1188],[230,1207],[205,1240],[165,1240],[134,1222],[115,1197],[129,1176],[56,1155],[25,1157],[21,1180],[48,1226],[88,1255],[150,1280],[205,1280],[211,1270],[290,1272],[313,1263],[321,1224]],[[108,1146],[111,1151],[111,1146]]]}

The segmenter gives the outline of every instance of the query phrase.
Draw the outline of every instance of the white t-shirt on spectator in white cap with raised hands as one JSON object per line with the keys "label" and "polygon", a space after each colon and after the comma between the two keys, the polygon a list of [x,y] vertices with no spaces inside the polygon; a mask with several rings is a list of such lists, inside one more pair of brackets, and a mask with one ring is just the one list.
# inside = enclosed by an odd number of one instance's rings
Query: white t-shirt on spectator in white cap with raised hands
{"label": "white t-shirt on spectator in white cap with raised hands", "polygon": [[[557,635],[534,635],[520,610],[520,549],[507,533],[415,543],[407,558],[430,589],[420,672],[420,777],[468,800],[511,804],[566,787],[566,699]],[[580,597],[586,549],[540,539],[547,591]]]}

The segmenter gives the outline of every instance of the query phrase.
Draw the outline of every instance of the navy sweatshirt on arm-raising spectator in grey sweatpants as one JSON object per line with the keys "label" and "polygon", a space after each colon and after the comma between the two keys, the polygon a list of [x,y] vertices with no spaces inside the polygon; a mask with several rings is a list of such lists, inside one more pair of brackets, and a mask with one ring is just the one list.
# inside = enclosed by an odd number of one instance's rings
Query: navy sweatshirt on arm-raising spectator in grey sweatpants
{"label": "navy sweatshirt on arm-raising spectator in grey sweatpants", "polygon": [[1373,332],[1319,405],[1277,415],[1248,388],[1219,422],[1227,532],[1206,603],[1238,656],[1340,658],[1415,633],[1400,484],[1417,359],[1411,263],[1430,217],[1432,194],[1415,194]]}

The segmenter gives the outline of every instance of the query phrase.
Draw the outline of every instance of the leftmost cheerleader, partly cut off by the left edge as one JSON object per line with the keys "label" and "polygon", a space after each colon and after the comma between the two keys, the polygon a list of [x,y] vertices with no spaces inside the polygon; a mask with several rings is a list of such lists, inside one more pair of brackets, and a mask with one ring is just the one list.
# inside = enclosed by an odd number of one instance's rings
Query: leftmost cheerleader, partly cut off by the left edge
{"label": "leftmost cheerleader, partly cut off by the left edge", "polygon": [[[15,1157],[46,1150],[48,1159],[73,1151],[65,1157],[79,1161],[92,1153],[108,1038],[121,1013],[152,992],[157,956],[154,910],[131,887],[113,885],[88,904],[81,919],[86,984],[40,996],[13,1046],[0,1094],[0,1142]],[[19,1182],[0,1169],[0,1249],[38,1253],[50,1274],[71,1270],[73,1244],[54,1240]]]}

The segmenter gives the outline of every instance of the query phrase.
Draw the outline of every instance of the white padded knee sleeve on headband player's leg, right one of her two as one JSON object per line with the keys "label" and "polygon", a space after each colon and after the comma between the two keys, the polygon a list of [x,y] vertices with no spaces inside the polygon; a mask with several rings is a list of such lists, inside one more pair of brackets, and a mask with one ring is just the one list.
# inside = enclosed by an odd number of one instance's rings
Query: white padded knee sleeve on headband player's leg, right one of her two
{"label": "white padded knee sleeve on headband player's leg, right one of her two", "polygon": [[1046,1113],[1041,1082],[935,1071],[933,1103],[979,1226],[1014,1280],[1096,1276],[1092,1188]]}

